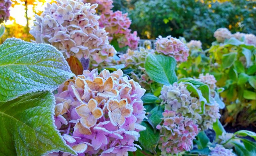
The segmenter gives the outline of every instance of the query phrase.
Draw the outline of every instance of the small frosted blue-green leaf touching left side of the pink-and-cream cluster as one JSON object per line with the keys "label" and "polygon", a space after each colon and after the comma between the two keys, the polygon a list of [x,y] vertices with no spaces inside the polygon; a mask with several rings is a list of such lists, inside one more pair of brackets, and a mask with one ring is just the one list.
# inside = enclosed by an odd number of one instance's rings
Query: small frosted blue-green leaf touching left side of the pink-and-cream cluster
{"label": "small frosted blue-green leaf touching left side of the pink-and-cream cluster", "polygon": [[163,112],[164,110],[161,108],[161,106],[157,106],[152,109],[147,116],[148,122],[152,125],[154,131],[156,131],[156,126],[162,122],[161,118],[163,117]]}

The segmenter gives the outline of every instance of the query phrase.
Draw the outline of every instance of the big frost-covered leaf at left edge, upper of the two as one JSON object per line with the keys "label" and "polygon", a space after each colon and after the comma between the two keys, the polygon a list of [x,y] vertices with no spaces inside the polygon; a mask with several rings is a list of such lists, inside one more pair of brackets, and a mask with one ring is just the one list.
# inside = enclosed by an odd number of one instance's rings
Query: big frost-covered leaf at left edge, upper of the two
{"label": "big frost-covered leaf at left edge, upper of the two", "polygon": [[11,38],[0,46],[0,101],[56,89],[71,76],[62,53],[51,45]]}

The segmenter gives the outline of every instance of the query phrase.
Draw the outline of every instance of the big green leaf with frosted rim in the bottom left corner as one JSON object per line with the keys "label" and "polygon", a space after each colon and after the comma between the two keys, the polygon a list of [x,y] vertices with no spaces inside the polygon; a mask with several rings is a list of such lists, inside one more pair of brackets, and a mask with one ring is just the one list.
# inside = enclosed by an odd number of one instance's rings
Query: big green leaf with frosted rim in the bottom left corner
{"label": "big green leaf with frosted rim in the bottom left corner", "polygon": [[56,129],[54,104],[55,98],[48,91],[0,102],[1,155],[43,155],[53,151],[76,155]]}

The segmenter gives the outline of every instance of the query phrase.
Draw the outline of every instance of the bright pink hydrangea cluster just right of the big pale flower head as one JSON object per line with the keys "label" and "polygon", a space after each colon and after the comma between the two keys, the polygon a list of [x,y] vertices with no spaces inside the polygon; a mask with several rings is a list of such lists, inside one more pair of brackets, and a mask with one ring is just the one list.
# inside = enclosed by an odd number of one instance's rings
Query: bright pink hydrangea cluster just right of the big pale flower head
{"label": "bright pink hydrangea cluster just right of the big pale flower head", "polygon": [[131,20],[127,17],[128,14],[123,14],[121,11],[110,11],[100,15],[100,27],[104,27],[108,32],[109,40],[117,39],[119,47],[129,46],[131,49],[136,49],[139,42],[137,32],[131,33]]}

